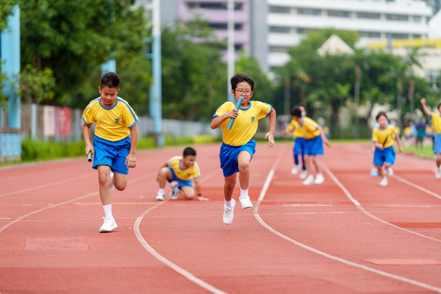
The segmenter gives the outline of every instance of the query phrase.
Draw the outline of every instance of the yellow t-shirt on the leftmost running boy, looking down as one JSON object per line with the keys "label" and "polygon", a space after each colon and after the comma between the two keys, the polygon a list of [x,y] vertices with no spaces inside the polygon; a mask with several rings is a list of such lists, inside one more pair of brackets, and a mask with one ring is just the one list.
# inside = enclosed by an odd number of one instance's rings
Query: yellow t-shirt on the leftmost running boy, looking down
{"label": "yellow t-shirt on the leftmost running boy, looking down", "polygon": [[130,135],[130,128],[139,122],[129,103],[116,97],[111,108],[101,105],[101,97],[91,101],[83,112],[83,120],[87,125],[95,123],[95,136],[116,142]]}

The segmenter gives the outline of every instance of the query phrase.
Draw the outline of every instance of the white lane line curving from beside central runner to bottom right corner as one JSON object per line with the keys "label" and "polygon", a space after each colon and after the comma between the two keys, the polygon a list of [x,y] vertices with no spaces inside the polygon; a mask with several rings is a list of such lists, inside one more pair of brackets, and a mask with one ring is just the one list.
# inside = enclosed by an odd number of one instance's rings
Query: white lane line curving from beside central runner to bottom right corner
{"label": "white lane line curving from beside central runner to bottom right corner", "polygon": [[[280,152],[280,153],[282,153],[282,152]],[[254,217],[256,218],[256,220],[260,224],[262,224],[263,227],[265,227],[265,229],[267,229],[268,231],[271,231],[271,233],[274,233],[274,234],[278,235],[280,238],[283,238],[283,239],[285,239],[285,240],[287,240],[287,241],[289,241],[291,243],[294,243],[297,246],[302,247],[303,249],[306,249],[308,251],[317,253],[318,255],[321,255],[321,256],[323,256],[325,258],[329,258],[331,260],[336,260],[337,262],[342,262],[343,264],[347,264],[349,266],[354,266],[354,267],[357,267],[359,269],[364,269],[365,271],[370,271],[371,273],[376,273],[376,274],[382,275],[384,277],[390,277],[390,278],[392,278],[394,280],[398,280],[400,282],[406,282],[406,283],[412,284],[414,286],[420,286],[422,288],[427,288],[427,289],[429,289],[431,291],[435,291],[435,292],[441,293],[441,288],[438,288],[436,286],[432,286],[432,285],[429,285],[429,284],[424,284],[424,283],[418,282],[416,280],[408,279],[407,277],[401,277],[399,275],[393,275],[393,274],[387,273],[385,271],[379,271],[378,269],[372,269],[369,266],[365,266],[365,265],[362,265],[362,264],[357,264],[355,262],[350,262],[349,260],[344,260],[342,258],[338,258],[338,257],[336,257],[334,255],[330,255],[328,253],[319,251],[319,250],[314,249],[312,247],[309,247],[309,246],[307,246],[305,244],[297,242],[296,240],[293,240],[293,239],[287,237],[286,235],[283,235],[282,233],[279,233],[275,229],[269,227],[269,225],[266,222],[264,222],[262,220],[262,218],[260,218],[259,213],[258,213],[258,209],[260,207],[260,202],[262,202],[263,198],[265,198],[265,193],[266,193],[266,191],[267,191],[267,189],[269,187],[269,184],[271,183],[271,180],[272,180],[272,178],[274,176],[274,172],[275,172],[276,167],[277,167],[276,163],[278,163],[277,160],[278,159],[276,159],[276,162],[274,162],[274,165],[271,168],[271,171],[269,171],[269,174],[267,176],[267,180],[265,180],[265,185],[263,185],[262,191],[260,192],[260,196],[259,196],[259,198],[258,198],[258,200],[256,202],[256,205],[254,206],[254,210],[253,210]]]}

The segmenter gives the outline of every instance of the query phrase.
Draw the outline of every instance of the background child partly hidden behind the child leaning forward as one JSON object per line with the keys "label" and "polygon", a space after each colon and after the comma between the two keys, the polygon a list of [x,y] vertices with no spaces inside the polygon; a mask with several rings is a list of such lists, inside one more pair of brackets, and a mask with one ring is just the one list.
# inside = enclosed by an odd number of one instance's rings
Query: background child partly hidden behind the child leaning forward
{"label": "background child partly hidden behind the child leaning forward", "polygon": [[[306,116],[306,105],[303,103],[298,103],[296,106],[300,107],[302,110],[302,116]],[[294,109],[294,108],[293,108]],[[292,112],[292,111],[291,111]],[[291,169],[291,174],[296,175],[298,171],[300,170],[300,163],[298,162],[298,156],[302,156],[302,172],[300,173],[299,178],[302,180],[305,180],[305,178],[308,176],[308,172],[306,170],[305,165],[305,136],[303,135],[302,131],[300,130],[300,125],[296,122],[294,119],[294,116],[291,120],[291,123],[289,123],[289,126],[287,128],[287,133],[291,133],[294,137],[294,167]]]}

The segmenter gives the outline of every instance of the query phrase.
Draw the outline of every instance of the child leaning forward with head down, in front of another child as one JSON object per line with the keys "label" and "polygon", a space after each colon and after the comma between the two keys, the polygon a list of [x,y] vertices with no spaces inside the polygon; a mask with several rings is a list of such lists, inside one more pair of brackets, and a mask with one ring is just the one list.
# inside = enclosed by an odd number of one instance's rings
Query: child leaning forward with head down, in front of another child
{"label": "child leaning forward with head down, in front of another child", "polygon": [[[305,164],[309,176],[303,181],[303,185],[322,184],[322,182],[325,182],[325,178],[323,178],[320,171],[317,156],[323,155],[323,143],[327,146],[331,145],[325,137],[325,132],[323,132],[322,127],[314,120],[311,120],[311,118],[302,116],[302,109],[300,109],[300,107],[294,107],[291,114],[298,125],[300,125],[301,132],[305,136]],[[316,180],[314,180],[314,176],[312,175],[311,160],[316,166]]]}

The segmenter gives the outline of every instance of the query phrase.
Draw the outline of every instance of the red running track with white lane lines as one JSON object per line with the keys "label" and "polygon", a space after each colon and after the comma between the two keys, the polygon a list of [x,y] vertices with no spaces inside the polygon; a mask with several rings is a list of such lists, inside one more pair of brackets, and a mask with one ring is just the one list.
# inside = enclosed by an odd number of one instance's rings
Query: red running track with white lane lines
{"label": "red running track with white lane lines", "polygon": [[85,158],[1,169],[0,293],[441,293],[434,160],[398,155],[378,187],[370,145],[334,144],[325,182],[305,187],[291,145],[258,145],[254,209],[225,226],[218,149],[196,148],[209,202],[156,202],[157,169],[182,148],[139,151],[112,233]]}

